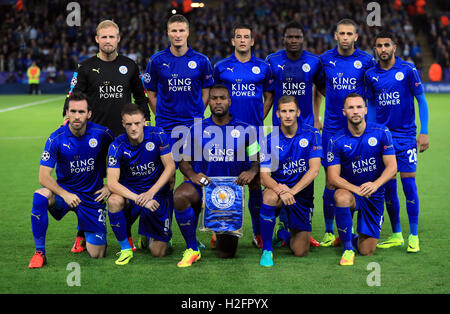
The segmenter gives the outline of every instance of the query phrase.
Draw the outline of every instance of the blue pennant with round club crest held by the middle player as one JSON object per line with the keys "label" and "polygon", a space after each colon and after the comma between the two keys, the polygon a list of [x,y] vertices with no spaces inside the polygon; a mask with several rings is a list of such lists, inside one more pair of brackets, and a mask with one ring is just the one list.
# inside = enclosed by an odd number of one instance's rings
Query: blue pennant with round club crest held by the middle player
{"label": "blue pennant with round club crest held by the middle player", "polygon": [[210,177],[203,187],[203,219],[200,231],[231,233],[242,236],[244,222],[244,187],[236,177]]}

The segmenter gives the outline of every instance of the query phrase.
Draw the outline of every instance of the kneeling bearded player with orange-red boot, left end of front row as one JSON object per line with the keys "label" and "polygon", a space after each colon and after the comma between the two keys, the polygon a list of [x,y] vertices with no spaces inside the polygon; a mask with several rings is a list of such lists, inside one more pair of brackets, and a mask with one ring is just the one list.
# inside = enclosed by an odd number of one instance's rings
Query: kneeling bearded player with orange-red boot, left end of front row
{"label": "kneeling bearded player with orange-red boot, left end of front row", "polygon": [[[85,231],[86,248],[91,257],[101,258],[106,251],[106,217],[104,200],[110,192],[103,185],[108,146],[114,139],[106,127],[89,122],[92,111],[86,95],[69,96],[69,123],[48,138],[39,168],[39,183],[34,193],[31,228],[36,252],[29,268],[46,264],[45,238],[48,212],[61,220],[74,210],[78,227]],[[56,165],[56,180],[51,173]]]}

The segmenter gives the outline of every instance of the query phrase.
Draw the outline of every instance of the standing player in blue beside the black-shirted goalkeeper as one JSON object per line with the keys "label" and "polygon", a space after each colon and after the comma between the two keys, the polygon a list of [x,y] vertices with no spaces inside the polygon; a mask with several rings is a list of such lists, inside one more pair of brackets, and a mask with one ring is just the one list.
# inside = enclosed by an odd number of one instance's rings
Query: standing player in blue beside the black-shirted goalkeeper
{"label": "standing player in blue beside the black-shirted goalkeeper", "polygon": [[213,79],[209,59],[188,44],[189,21],[184,16],[169,18],[167,35],[169,46],[150,57],[143,81],[156,126],[173,144],[180,138],[172,134],[176,126],[190,127],[195,118],[203,118]]}

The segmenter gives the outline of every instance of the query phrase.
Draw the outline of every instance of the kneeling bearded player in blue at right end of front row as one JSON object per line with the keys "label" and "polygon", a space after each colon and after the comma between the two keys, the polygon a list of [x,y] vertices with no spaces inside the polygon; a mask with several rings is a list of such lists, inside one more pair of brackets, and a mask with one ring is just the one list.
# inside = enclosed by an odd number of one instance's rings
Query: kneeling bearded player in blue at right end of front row
{"label": "kneeling bearded player in blue at right end of front row", "polygon": [[[344,100],[347,128],[328,142],[327,165],[334,194],[336,226],[344,245],[341,265],[353,265],[355,252],[372,255],[380,237],[384,211],[384,184],[397,171],[391,132],[366,123],[367,106],[355,93]],[[354,235],[353,213],[358,211]]]}

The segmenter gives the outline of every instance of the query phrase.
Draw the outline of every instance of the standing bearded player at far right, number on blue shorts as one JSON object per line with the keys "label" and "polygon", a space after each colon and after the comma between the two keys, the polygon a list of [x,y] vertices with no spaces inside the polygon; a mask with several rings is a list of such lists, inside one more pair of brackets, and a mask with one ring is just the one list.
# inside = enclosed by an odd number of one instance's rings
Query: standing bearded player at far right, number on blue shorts
{"label": "standing bearded player at far right, number on blue shorts", "polygon": [[[375,38],[378,64],[367,70],[365,82],[369,100],[369,120],[389,128],[394,141],[398,171],[406,197],[410,235],[407,252],[418,252],[419,195],[416,186],[417,148],[428,149],[428,104],[416,67],[395,56],[397,44],[390,32],[380,32]],[[417,136],[414,98],[417,99],[420,133]],[[404,244],[400,225],[400,203],[397,195],[397,178],[394,175],[386,184],[386,209],[392,235],[378,247],[389,248]]]}

